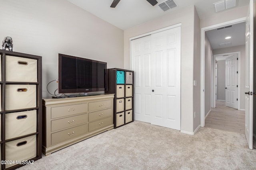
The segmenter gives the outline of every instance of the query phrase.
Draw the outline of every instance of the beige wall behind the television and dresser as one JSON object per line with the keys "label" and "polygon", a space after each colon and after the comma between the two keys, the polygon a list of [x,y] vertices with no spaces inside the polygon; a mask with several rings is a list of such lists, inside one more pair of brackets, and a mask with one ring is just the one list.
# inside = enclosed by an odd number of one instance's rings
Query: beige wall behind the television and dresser
{"label": "beige wall behind the television and dresser", "polygon": [[[124,31],[66,0],[1,0],[0,41],[11,36],[14,51],[42,56],[43,97],[58,79],[58,53],[124,67]],[[50,92],[58,88],[51,83]]]}

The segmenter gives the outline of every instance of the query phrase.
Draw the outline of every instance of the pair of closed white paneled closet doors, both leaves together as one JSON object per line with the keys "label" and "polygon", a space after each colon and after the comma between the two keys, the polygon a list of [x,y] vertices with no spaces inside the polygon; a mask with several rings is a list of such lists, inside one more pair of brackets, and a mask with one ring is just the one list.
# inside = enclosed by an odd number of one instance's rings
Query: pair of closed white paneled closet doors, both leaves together
{"label": "pair of closed white paneled closet doors, both leaves together", "polygon": [[134,119],[180,130],[181,27],[132,40]]}

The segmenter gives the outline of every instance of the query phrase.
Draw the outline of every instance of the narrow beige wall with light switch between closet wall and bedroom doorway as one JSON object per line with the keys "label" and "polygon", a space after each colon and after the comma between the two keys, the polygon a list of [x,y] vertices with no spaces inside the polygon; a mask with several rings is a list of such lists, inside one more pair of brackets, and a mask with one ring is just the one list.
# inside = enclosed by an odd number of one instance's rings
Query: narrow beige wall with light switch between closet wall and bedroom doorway
{"label": "narrow beige wall with light switch between closet wall and bedroom doorway", "polygon": [[195,117],[193,123],[193,131],[200,125],[200,19],[196,12],[194,15],[194,80],[196,86],[193,89],[193,107]]}

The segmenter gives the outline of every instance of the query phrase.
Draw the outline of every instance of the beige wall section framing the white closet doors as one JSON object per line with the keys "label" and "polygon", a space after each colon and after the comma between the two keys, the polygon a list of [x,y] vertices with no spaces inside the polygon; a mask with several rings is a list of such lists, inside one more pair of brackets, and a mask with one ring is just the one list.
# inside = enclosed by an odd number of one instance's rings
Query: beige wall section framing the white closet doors
{"label": "beige wall section framing the white closet doors", "polygon": [[181,23],[181,131],[193,133],[194,6],[124,30],[124,68],[130,68],[129,38]]}

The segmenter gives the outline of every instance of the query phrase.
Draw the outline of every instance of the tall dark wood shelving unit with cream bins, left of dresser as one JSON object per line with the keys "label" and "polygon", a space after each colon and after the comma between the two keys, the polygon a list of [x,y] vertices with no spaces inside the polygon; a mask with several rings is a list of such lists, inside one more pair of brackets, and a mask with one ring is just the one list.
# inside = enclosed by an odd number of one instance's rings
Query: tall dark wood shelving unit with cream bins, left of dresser
{"label": "tall dark wood shelving unit with cream bins, left of dresser", "polygon": [[[1,169],[12,170],[24,166],[24,164],[16,164],[19,161],[27,160],[28,162],[32,162],[42,158],[42,57],[7,50],[0,50],[0,56],[0,156],[1,160],[6,161],[6,163],[7,161],[14,161],[11,164],[2,164]],[[12,62],[15,61],[13,60],[14,58],[18,59],[18,61],[14,62],[17,64],[17,66],[8,65],[8,63],[10,62],[6,61],[7,57],[9,57],[8,61],[12,60]],[[24,66],[22,67],[24,69],[19,70],[20,65]],[[27,70],[26,68],[31,68],[31,65],[33,66],[32,70]],[[14,68],[14,72],[10,71],[11,67]],[[12,72],[12,79],[13,77],[14,79],[15,77],[17,77],[17,81],[10,81],[10,72]],[[30,77],[31,75],[34,75],[35,80],[27,81],[26,78]],[[9,81],[7,81],[6,77]],[[21,78],[24,78],[24,81],[22,81]],[[17,86],[20,86],[21,88],[18,88],[16,90]],[[24,86],[26,86],[27,88],[25,88]],[[15,87],[15,90],[11,89],[10,87]],[[30,87],[32,87],[32,90],[30,90]],[[9,94],[8,89],[11,89],[9,91],[15,91],[11,93],[13,95]],[[18,94],[27,93],[29,95],[26,97],[24,97],[23,94],[20,96],[16,96],[17,92]],[[12,98],[14,98],[15,100],[20,99],[20,102],[10,100]],[[22,106],[23,103],[24,106]],[[26,107],[26,103],[28,103],[28,107]],[[30,103],[33,103],[34,106],[30,107]],[[13,109],[7,108],[6,106],[13,107]],[[15,108],[16,106],[19,106],[19,108]],[[21,121],[22,123],[20,123]],[[12,123],[15,124],[15,126],[10,127]],[[31,129],[31,132],[25,129]],[[9,133],[7,133],[6,131],[9,131]],[[9,136],[9,138],[6,139],[6,136]],[[10,147],[8,146],[10,146],[11,144],[16,147],[14,149],[10,149]],[[15,157],[18,157],[19,160],[7,160],[8,158]],[[26,157],[29,158],[26,159]]]}

